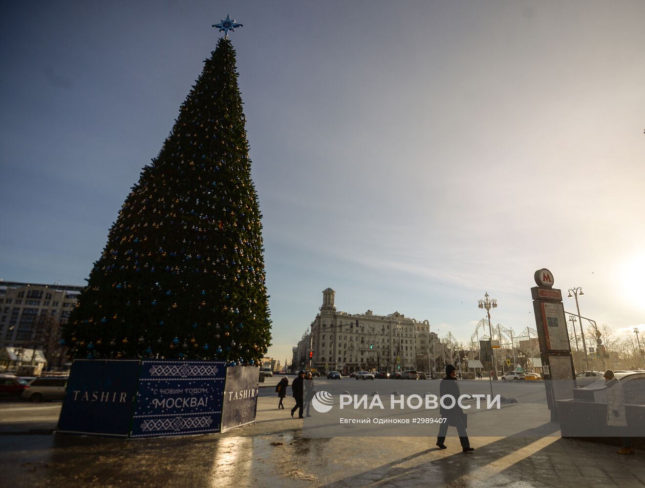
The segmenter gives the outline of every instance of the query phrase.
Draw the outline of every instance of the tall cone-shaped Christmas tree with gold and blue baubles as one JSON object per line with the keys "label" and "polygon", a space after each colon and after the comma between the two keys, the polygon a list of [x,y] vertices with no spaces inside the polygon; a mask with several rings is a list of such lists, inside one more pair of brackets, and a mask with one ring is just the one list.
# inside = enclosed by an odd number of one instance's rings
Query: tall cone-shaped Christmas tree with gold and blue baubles
{"label": "tall cone-shaped Christmas tree with gold and blue baubles", "polygon": [[132,187],[65,327],[71,357],[254,364],[270,345],[261,214],[227,38]]}

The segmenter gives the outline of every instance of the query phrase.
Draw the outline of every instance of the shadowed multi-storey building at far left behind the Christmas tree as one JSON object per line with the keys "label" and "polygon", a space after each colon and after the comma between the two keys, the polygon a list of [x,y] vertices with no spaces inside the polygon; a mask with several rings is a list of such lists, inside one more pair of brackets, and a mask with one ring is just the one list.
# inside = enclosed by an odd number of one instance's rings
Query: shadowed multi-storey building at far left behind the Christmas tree
{"label": "shadowed multi-storey building at far left behind the Christmas tree", "polygon": [[82,286],[0,281],[0,348],[42,350],[50,366],[64,361],[61,325]]}

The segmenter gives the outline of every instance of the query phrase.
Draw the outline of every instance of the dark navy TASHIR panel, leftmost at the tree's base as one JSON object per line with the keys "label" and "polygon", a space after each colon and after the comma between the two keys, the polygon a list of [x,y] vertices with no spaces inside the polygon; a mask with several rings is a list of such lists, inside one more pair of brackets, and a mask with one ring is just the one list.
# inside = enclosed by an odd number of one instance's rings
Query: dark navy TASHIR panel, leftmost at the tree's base
{"label": "dark navy TASHIR panel, leftmost at the tree's base", "polygon": [[138,380],[138,360],[77,359],[67,382],[58,430],[128,436]]}

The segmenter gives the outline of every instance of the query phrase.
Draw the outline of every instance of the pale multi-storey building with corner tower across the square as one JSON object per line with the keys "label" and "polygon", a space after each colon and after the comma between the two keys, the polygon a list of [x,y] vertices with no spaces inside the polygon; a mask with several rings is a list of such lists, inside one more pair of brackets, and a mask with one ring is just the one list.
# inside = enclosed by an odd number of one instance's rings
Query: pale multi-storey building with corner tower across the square
{"label": "pale multi-storey building with corner tower across the square", "polygon": [[344,373],[394,371],[417,368],[417,353],[427,353],[433,334],[427,320],[399,312],[348,314],[336,310],[334,302],[335,292],[327,288],[320,313],[294,348],[295,364]]}

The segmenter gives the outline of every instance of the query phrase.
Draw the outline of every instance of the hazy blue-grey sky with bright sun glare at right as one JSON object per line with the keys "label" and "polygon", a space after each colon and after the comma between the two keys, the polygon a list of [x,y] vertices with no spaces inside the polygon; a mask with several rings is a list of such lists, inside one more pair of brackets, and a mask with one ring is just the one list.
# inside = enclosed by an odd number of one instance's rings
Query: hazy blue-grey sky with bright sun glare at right
{"label": "hazy blue-grey sky with bright sun glare at right", "polygon": [[84,284],[226,14],[270,355],[328,286],[464,342],[486,291],[493,324],[535,327],[541,267],[582,315],[645,323],[640,0],[5,2],[0,278]]}

